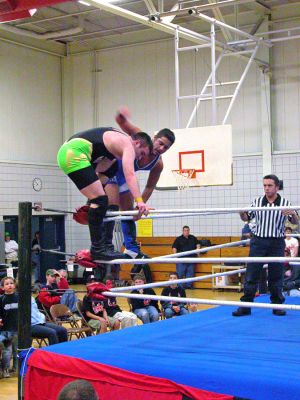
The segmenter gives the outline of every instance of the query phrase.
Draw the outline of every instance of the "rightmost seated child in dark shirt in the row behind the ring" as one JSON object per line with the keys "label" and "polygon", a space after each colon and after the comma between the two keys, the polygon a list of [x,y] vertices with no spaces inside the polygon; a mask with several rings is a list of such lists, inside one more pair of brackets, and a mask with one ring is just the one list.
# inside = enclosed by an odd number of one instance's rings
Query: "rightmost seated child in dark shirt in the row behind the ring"
{"label": "rightmost seated child in dark shirt in the row behind the ring", "polygon": [[[174,281],[175,279],[178,279],[177,273],[171,272],[169,275],[169,280]],[[185,290],[181,286],[178,286],[177,283],[164,287],[161,295],[179,298],[186,297]],[[178,315],[186,315],[189,313],[186,308],[186,304],[180,303],[180,301],[161,301],[160,304],[162,305],[165,317],[167,319]]]}

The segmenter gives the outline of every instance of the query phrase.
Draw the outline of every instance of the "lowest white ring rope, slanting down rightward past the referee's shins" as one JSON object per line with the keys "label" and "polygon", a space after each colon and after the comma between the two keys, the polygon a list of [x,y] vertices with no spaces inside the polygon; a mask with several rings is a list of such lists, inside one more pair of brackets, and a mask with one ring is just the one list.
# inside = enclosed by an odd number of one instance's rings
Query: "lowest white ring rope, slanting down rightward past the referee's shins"
{"label": "lowest white ring rope, slanting down rightward past the referee's shins", "polygon": [[127,299],[145,299],[145,300],[157,300],[157,301],[167,301],[167,302],[174,301],[177,303],[209,304],[215,306],[237,306],[237,307],[251,307],[251,308],[270,308],[273,310],[300,311],[300,306],[295,304],[250,303],[244,301],[195,299],[192,297],[155,296],[149,294],[134,294],[134,293],[103,292],[102,294],[103,296],[106,297],[125,297]]}

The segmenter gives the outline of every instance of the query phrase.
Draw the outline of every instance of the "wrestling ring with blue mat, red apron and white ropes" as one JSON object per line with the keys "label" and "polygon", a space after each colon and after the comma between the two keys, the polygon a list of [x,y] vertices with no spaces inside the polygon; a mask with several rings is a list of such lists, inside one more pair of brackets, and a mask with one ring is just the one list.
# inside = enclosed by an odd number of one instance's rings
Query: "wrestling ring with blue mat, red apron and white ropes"
{"label": "wrestling ring with blue mat, red apron and white ropes", "polygon": [[[283,209],[297,210],[300,207]],[[180,214],[180,210],[162,211],[162,215]],[[197,209],[182,210],[182,213],[201,215],[240,211],[247,209]],[[114,213],[110,217],[123,218],[125,214],[126,217],[134,215],[132,212]],[[245,242],[155,257],[147,259],[147,263],[251,261],[299,265],[298,257],[188,257],[193,253],[209,252],[216,247],[240,246]],[[144,264],[145,260],[120,259],[101,263]],[[183,280],[111,288],[102,290],[101,294],[105,297],[178,301],[177,297],[127,292],[244,272],[245,268],[240,268]],[[194,297],[180,298],[180,302],[223,307],[36,349],[30,355],[26,354],[25,400],[55,400],[60,389],[75,379],[89,380],[101,400],[300,398],[299,297],[287,297],[285,304],[270,304],[268,295],[256,298],[254,303]],[[233,318],[231,312],[237,306],[252,307],[252,316]],[[279,318],[272,315],[272,309],[284,309],[288,313]]]}

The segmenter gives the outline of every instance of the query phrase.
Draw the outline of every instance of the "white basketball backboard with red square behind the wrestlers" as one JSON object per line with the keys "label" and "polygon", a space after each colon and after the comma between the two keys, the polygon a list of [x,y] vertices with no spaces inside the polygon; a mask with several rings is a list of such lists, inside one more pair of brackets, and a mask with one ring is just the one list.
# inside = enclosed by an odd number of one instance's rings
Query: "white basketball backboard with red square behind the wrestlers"
{"label": "white basketball backboard with red square behind the wrestlers", "polygon": [[194,169],[189,187],[232,185],[231,125],[175,129],[175,143],[162,156],[158,190],[177,189],[173,170]]}

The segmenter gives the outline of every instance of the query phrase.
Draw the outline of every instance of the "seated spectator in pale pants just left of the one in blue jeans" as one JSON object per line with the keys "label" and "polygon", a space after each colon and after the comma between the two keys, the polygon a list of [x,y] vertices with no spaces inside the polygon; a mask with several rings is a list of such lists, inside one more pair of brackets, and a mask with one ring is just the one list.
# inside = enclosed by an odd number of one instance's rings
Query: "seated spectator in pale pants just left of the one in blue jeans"
{"label": "seated spectator in pale pants just left of the one in blue jeans", "polygon": [[[114,287],[114,281],[111,279],[106,279],[105,283],[110,287]],[[132,312],[123,311],[117,304],[115,297],[108,297],[107,300],[104,301],[104,308],[111,326],[114,326],[116,321],[118,321],[122,329],[137,325],[137,316]]]}

